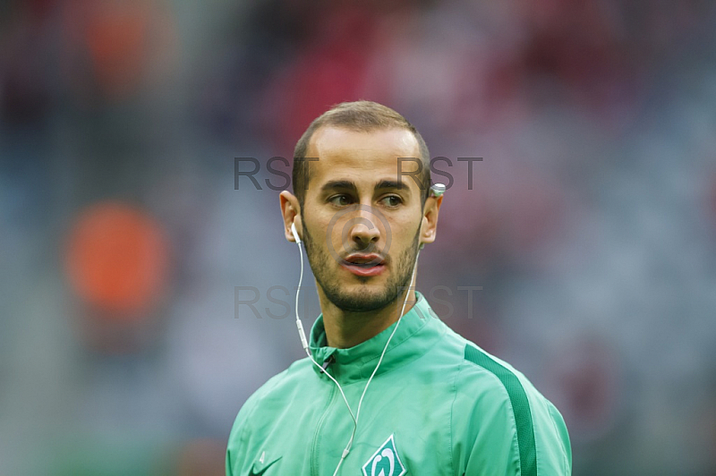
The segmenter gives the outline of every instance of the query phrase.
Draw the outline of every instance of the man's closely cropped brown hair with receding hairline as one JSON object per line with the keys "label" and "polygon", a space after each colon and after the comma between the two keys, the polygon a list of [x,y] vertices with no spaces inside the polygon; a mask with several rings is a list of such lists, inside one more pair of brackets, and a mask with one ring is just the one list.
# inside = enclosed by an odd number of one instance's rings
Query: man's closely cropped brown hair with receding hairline
{"label": "man's closely cropped brown hair with receding hairline", "polygon": [[303,208],[303,200],[305,200],[306,197],[306,185],[309,181],[307,173],[309,167],[303,159],[306,158],[306,151],[308,150],[313,133],[323,126],[333,126],[355,132],[371,132],[393,128],[413,132],[415,139],[418,141],[418,147],[420,148],[421,157],[419,158],[422,160],[422,172],[419,175],[419,181],[421,183],[422,203],[425,203],[430,193],[430,152],[420,132],[418,132],[415,126],[409,123],[405,117],[388,106],[383,106],[373,101],[354,101],[340,103],[318,116],[313,120],[311,125],[308,126],[306,132],[303,132],[301,139],[296,142],[292,179],[294,183],[294,194],[298,198],[301,208]]}

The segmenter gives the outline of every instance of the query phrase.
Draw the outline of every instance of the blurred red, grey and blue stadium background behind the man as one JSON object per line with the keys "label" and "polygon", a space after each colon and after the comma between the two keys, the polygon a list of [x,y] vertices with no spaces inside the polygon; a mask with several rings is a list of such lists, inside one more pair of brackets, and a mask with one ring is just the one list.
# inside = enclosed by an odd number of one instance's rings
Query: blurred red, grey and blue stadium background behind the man
{"label": "blurred red, grey and blue stadium background behind the man", "polygon": [[268,159],[357,98],[452,159],[419,287],[557,404],[575,474],[716,474],[705,0],[0,2],[0,474],[223,474],[302,356],[234,305],[298,277],[234,157],[280,184]]}

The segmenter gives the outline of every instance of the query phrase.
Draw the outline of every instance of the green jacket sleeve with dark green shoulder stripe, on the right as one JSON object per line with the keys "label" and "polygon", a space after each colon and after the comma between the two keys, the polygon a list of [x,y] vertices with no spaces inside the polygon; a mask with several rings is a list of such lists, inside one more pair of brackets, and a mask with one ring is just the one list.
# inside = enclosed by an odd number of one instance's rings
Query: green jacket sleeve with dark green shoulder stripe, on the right
{"label": "green jacket sleeve with dark green shoulder stripe, on the right", "polygon": [[461,372],[453,407],[455,474],[570,475],[567,427],[554,405],[507,363],[469,357],[477,366]]}

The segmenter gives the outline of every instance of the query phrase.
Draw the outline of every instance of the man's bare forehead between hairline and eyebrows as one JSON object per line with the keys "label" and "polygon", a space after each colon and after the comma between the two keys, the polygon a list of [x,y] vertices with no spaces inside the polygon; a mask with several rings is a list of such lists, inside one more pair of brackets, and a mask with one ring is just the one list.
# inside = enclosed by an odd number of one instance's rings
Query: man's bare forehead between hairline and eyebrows
{"label": "man's bare forehead between hairline and eyebrows", "polygon": [[[420,146],[413,132],[406,129],[378,129],[357,132],[338,127],[321,127],[313,133],[307,157],[318,157],[311,162],[311,182],[325,182],[336,178],[354,181],[398,177],[398,157],[420,159]],[[401,164],[403,173],[417,169],[413,161]],[[409,176],[402,182],[414,182]]]}

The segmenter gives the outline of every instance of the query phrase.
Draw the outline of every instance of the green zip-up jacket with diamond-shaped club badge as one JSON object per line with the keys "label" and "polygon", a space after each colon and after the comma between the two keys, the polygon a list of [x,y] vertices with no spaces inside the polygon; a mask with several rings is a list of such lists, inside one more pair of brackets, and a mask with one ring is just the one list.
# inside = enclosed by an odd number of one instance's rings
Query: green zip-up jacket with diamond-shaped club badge
{"label": "green zip-up jacket with diamond-shaped club badge", "polygon": [[[417,296],[363,399],[339,474],[571,474],[557,409]],[[354,412],[392,331],[336,349],[326,345],[322,316],[311,329],[314,359],[341,384]],[[228,440],[226,475],[331,476],[353,428],[336,384],[308,358],[295,361],[243,405]]]}

